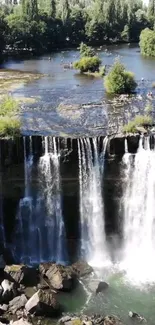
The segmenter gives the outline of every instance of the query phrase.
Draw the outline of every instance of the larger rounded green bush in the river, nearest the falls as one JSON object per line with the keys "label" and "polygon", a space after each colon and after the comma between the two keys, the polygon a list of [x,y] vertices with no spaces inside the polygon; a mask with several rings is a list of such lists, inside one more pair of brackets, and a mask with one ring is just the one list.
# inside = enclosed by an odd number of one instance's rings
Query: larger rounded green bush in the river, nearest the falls
{"label": "larger rounded green bush in the river, nearest the falls", "polygon": [[123,64],[116,61],[104,78],[104,85],[109,94],[129,94],[132,93],[137,84],[134,74],[126,71]]}

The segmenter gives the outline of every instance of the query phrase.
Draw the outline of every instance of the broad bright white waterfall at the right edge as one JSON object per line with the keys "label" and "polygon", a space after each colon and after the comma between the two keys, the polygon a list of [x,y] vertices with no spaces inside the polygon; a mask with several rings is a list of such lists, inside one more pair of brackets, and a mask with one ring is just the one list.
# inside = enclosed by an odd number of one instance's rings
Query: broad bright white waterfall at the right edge
{"label": "broad bright white waterfall at the right edge", "polygon": [[140,138],[135,156],[126,152],[123,162],[124,248],[121,267],[132,281],[150,282],[155,279],[155,150],[150,150],[149,137]]}

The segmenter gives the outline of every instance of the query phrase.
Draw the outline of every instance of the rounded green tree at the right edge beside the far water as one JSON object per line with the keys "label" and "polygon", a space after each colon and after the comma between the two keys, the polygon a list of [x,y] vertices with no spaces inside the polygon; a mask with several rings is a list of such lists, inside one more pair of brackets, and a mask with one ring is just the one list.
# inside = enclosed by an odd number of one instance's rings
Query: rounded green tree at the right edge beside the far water
{"label": "rounded green tree at the right edge beside the far water", "polygon": [[140,34],[139,45],[141,54],[155,57],[155,30],[145,28]]}

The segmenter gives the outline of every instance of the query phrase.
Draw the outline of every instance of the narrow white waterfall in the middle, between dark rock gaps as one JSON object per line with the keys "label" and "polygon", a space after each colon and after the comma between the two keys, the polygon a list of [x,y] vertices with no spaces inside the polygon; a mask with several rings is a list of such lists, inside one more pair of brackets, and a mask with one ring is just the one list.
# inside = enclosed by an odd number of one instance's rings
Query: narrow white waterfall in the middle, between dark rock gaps
{"label": "narrow white waterfall in the middle, between dark rock gaps", "polygon": [[[104,143],[106,143],[104,141]],[[105,153],[105,147],[103,149]],[[100,267],[109,261],[102,199],[103,169],[97,139],[78,139],[81,255]]]}

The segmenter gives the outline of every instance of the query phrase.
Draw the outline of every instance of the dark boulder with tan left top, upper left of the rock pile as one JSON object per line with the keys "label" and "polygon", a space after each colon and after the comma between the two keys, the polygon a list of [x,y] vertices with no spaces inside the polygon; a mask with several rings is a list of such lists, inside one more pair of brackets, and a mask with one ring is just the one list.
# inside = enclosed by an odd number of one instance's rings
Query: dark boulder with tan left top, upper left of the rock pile
{"label": "dark boulder with tan left top, upper left of the rock pile", "polygon": [[4,271],[9,275],[11,281],[32,287],[38,283],[38,272],[35,268],[25,265],[7,265]]}

